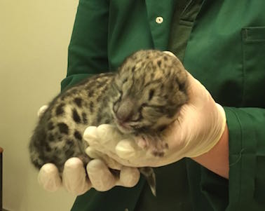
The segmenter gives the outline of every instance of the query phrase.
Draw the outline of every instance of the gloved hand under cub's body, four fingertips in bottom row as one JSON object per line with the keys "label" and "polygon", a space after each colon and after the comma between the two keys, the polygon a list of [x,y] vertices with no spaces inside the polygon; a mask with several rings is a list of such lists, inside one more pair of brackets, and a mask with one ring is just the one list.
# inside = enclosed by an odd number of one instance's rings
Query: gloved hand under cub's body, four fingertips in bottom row
{"label": "gloved hand under cub's body, four fingertips in bottom row", "polygon": [[[41,107],[38,116],[46,109],[47,106]],[[90,161],[85,169],[79,158],[69,158],[64,164],[62,178],[53,163],[46,163],[39,171],[39,184],[47,191],[56,191],[60,186],[64,186],[70,193],[81,195],[92,187],[97,191],[107,191],[114,186],[132,187],[139,181],[140,172],[137,168],[125,167],[112,159],[105,158],[105,161],[109,163],[108,166],[102,160],[95,159]],[[115,170],[120,171],[119,175]]]}

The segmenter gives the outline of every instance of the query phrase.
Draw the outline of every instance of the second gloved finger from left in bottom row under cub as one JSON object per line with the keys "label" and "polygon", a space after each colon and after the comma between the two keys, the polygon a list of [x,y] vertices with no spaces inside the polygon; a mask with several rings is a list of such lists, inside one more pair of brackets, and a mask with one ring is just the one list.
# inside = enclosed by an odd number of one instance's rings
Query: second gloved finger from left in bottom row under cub
{"label": "second gloved finger from left in bottom row under cub", "polygon": [[64,187],[74,195],[81,195],[91,188],[91,183],[86,175],[86,169],[79,158],[69,158],[64,164],[62,172]]}

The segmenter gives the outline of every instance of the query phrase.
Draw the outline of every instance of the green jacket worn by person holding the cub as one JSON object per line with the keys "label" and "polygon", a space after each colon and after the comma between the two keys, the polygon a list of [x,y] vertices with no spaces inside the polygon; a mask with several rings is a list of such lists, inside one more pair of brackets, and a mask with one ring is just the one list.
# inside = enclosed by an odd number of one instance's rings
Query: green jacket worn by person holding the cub
{"label": "green jacket worn by person holding the cub", "polygon": [[[141,179],[132,189],[92,189],[72,210],[265,210],[264,8],[264,0],[205,0],[186,46],[184,67],[226,111],[229,180],[186,158],[157,169],[157,198]],[[62,89],[114,71],[136,50],[167,50],[174,9],[173,0],[80,0]]]}

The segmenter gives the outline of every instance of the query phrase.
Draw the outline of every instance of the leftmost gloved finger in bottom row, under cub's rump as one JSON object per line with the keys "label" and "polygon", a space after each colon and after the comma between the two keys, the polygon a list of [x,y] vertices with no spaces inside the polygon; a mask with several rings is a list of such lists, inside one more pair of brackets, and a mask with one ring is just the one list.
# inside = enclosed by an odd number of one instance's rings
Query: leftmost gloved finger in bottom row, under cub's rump
{"label": "leftmost gloved finger in bottom row, under cub's rump", "polygon": [[46,163],[41,167],[38,180],[46,191],[57,191],[62,186],[58,169],[53,163]]}

